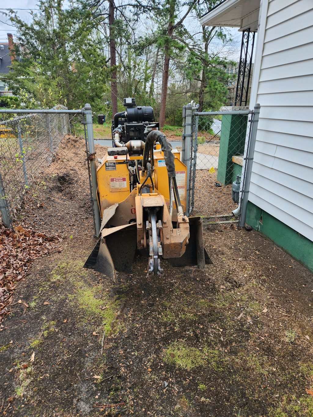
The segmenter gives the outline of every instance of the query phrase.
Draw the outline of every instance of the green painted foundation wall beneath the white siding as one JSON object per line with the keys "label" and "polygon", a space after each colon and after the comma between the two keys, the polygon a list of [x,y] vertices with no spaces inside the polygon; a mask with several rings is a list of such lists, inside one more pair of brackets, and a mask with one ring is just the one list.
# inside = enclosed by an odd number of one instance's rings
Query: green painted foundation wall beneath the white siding
{"label": "green painted foundation wall beneath the white siding", "polygon": [[260,231],[313,272],[313,242],[248,201],[246,223]]}

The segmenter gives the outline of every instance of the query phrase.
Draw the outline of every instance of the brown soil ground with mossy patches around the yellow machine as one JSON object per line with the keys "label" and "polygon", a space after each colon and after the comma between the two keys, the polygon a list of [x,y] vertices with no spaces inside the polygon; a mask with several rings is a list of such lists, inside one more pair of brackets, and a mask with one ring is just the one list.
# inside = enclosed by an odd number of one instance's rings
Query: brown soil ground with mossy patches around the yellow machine
{"label": "brown soil ground with mossy patches around the yellow machine", "polygon": [[0,414],[313,416],[312,274],[234,224],[204,226],[204,270],[163,261],[164,276],[147,278],[145,258],[117,282],[85,270],[86,166],[68,170],[60,151],[51,173],[65,180],[52,176],[21,214],[63,240],[33,262],[2,323]]}

